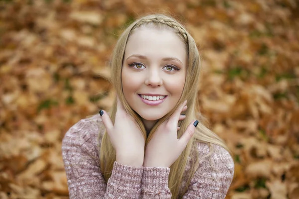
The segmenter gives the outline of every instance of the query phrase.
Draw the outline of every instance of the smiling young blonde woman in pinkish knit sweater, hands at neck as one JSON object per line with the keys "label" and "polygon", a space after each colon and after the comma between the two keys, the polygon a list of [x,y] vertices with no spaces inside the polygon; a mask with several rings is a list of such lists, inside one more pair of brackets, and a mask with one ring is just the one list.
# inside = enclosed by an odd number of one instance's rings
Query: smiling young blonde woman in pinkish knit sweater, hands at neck
{"label": "smiling young blonde woman in pinkish knit sweater, hands at neck", "polygon": [[80,120],[63,138],[70,198],[225,198],[234,162],[197,118],[200,58],[186,29],[162,14],[136,20],[111,69],[110,113]]}

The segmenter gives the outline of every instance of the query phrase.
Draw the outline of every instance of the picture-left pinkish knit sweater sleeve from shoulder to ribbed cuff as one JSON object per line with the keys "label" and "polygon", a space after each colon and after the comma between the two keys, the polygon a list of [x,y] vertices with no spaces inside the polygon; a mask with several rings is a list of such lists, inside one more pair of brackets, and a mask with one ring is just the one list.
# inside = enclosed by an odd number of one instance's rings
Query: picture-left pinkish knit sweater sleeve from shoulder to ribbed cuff
{"label": "picture-left pinkish knit sweater sleeve from shoulder to ribbed cuff", "polygon": [[62,140],[62,157],[70,199],[140,199],[143,168],[114,162],[106,185],[99,168],[98,124],[82,119]]}

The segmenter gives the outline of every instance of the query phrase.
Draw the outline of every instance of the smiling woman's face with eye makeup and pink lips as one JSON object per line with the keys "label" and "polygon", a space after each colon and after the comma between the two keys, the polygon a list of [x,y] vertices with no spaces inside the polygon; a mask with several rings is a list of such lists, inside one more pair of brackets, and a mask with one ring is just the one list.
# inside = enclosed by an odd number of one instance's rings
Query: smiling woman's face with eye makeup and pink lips
{"label": "smiling woman's face with eye makeup and pink lips", "polygon": [[166,115],[181,97],[186,64],[185,45],[174,32],[135,30],[122,66],[123,92],[129,105],[149,121]]}

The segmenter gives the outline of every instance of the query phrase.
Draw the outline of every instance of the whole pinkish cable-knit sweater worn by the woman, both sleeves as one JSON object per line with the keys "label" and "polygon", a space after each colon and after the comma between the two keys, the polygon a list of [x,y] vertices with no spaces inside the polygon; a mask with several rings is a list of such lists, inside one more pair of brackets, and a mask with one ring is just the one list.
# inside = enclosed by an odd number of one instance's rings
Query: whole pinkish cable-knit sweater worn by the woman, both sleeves
{"label": "whole pinkish cable-knit sweater worn by the woman, both sleeves", "polygon": [[[168,188],[170,168],[135,168],[114,162],[107,184],[99,167],[99,150],[105,127],[99,114],[81,119],[62,140],[62,157],[67,176],[70,199],[171,199]],[[199,158],[199,167],[191,178],[183,199],[223,199],[234,176],[234,161],[228,151],[199,142],[199,157],[189,157],[190,164]],[[216,169],[213,169],[216,168]],[[185,186],[183,179],[179,192]]]}

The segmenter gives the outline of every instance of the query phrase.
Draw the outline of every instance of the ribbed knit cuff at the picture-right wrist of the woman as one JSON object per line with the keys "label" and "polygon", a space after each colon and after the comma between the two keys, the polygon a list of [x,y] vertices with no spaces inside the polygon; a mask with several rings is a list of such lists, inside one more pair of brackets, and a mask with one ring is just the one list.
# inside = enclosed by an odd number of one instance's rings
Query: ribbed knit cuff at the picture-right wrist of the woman
{"label": "ribbed knit cuff at the picture-right wrist of the woman", "polygon": [[170,168],[144,167],[142,188],[144,190],[168,189]]}

